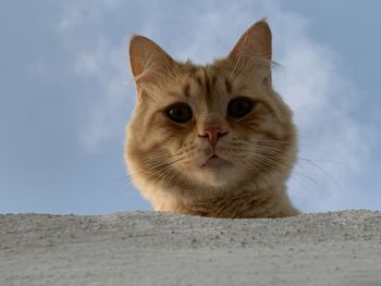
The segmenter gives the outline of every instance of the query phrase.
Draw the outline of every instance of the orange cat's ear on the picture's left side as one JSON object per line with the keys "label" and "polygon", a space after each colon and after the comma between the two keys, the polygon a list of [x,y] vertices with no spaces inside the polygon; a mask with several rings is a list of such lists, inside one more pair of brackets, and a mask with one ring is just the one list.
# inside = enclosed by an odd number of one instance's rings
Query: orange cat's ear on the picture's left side
{"label": "orange cat's ear on the picture's left side", "polygon": [[157,43],[143,36],[133,36],[130,41],[130,64],[138,88],[158,83],[173,71],[174,60]]}

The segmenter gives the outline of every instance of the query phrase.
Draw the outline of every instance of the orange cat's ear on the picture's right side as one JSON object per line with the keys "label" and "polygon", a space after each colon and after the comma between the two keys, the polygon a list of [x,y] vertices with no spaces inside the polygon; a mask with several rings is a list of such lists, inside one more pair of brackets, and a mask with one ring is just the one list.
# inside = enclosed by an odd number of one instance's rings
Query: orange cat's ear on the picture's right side
{"label": "orange cat's ear on the picture's right side", "polygon": [[256,72],[263,85],[271,87],[271,29],[266,20],[261,20],[241,36],[228,59],[235,70]]}

